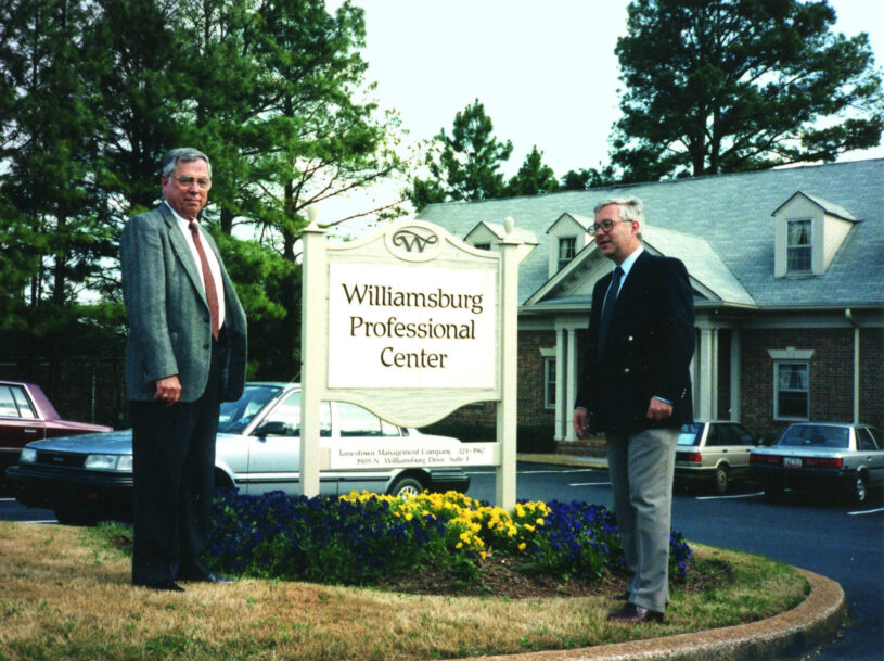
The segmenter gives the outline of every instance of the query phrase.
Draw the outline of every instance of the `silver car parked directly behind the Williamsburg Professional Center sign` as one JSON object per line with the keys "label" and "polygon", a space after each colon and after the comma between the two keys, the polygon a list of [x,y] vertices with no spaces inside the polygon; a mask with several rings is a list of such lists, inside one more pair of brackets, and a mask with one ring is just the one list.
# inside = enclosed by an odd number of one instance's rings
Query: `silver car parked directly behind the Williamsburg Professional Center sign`
{"label": "silver car parked directly behind the Williamsburg Professional Center sign", "polygon": [[[409,448],[412,454],[425,449],[435,457],[450,450],[457,456],[461,448],[457,438],[397,427],[343,402],[322,403],[320,428],[321,448],[334,449],[342,457],[376,454],[382,458],[372,459],[368,465],[375,468],[369,471],[346,468],[321,472],[320,494],[366,490],[403,495],[424,490],[465,492],[470,486],[470,478],[460,468],[385,466],[397,448]],[[299,435],[300,386],[248,383],[238,402],[221,405],[215,444],[216,486],[235,487],[245,494],[299,494]],[[7,474],[20,503],[53,509],[61,522],[130,520],[132,432],[29,443],[18,465]]]}

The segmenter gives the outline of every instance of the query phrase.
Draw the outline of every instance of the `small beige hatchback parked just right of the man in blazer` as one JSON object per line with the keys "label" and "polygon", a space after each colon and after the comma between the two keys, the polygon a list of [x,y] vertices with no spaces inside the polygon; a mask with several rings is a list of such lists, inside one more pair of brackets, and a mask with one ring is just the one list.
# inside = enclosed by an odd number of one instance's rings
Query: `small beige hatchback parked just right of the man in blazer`
{"label": "small beige hatchback parked just right of the man in blazer", "polygon": [[727,493],[732,481],[748,476],[750,453],[760,442],[735,422],[683,424],[676,445],[676,481],[712,483],[716,493]]}

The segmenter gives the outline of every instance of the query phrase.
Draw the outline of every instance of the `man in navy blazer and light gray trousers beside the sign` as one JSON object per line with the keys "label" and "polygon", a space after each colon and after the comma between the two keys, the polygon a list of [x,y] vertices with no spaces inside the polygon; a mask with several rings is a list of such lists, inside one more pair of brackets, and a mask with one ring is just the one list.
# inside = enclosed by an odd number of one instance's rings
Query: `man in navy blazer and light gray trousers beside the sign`
{"label": "man in navy blazer and light gray trousers beside the sign", "polygon": [[622,622],[662,621],[669,602],[669,530],[679,428],[693,420],[690,364],[694,308],[688,271],[641,243],[635,198],[595,206],[595,244],[614,262],[595,283],[584,374],[574,411],[578,436],[604,433],[614,511],[624,543]]}

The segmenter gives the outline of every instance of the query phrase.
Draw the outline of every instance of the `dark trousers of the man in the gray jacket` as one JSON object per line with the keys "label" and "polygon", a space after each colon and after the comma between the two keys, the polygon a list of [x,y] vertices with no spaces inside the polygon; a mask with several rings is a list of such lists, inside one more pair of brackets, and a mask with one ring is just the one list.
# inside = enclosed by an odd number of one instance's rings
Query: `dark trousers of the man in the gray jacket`
{"label": "dark trousers of the man in the gray jacket", "polygon": [[215,490],[219,354],[195,402],[130,402],[134,531],[132,583],[155,585],[205,571]]}

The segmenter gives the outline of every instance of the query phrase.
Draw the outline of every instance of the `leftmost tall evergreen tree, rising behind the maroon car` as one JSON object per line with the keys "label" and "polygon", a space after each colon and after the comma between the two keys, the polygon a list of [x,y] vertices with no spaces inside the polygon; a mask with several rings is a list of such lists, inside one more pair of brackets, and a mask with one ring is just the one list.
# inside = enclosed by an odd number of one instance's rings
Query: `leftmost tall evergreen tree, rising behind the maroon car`
{"label": "leftmost tall evergreen tree, rising behind the maroon car", "polygon": [[[100,223],[102,195],[94,177],[94,74],[88,40],[92,5],[76,0],[18,0],[0,8],[3,105],[4,243],[16,257],[8,276],[27,296],[4,292],[4,326],[27,326],[50,339],[52,392],[61,334],[72,304],[111,250]],[[4,254],[7,254],[4,245]],[[5,259],[5,257],[4,257]],[[8,269],[3,269],[7,271]],[[17,280],[17,281],[16,281]]]}

